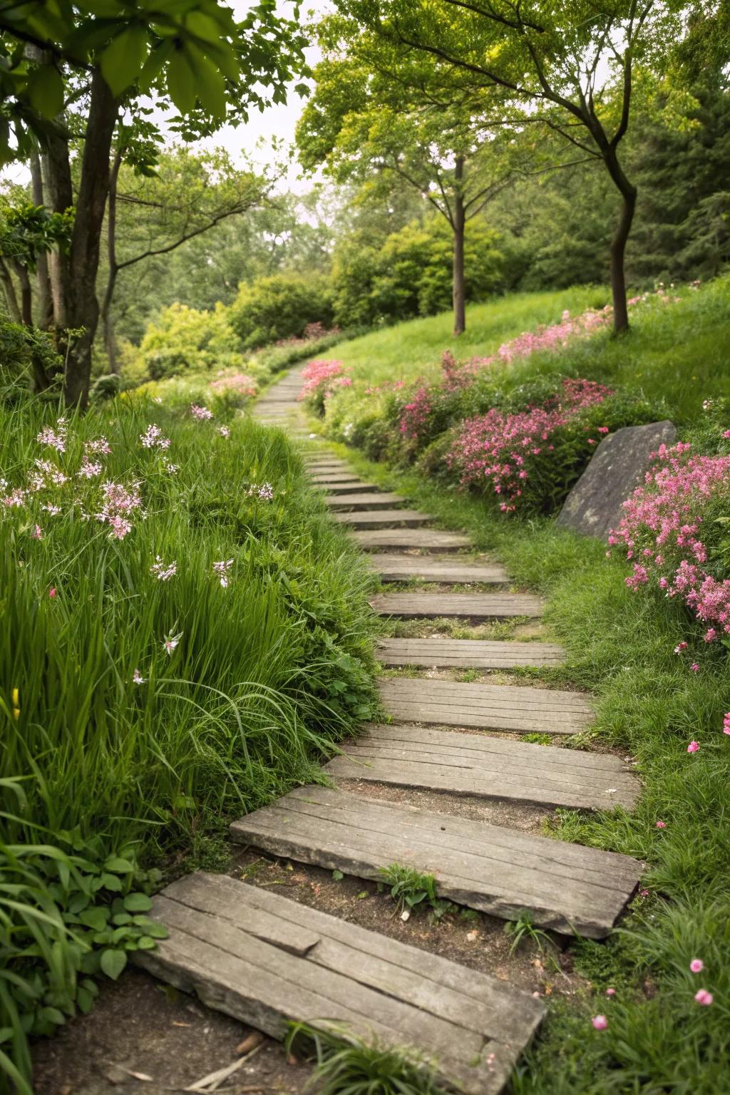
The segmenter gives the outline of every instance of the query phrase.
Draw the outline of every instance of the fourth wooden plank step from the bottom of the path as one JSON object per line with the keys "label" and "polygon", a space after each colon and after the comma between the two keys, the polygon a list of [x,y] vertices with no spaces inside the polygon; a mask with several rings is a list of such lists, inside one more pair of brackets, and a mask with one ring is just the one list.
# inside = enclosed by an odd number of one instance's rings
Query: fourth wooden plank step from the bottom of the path
{"label": "fourth wooden plank step from the bottom of the path", "polygon": [[395,719],[430,726],[468,726],[515,734],[579,734],[593,712],[579,692],[474,684],[425,677],[392,677],[378,685]]}

